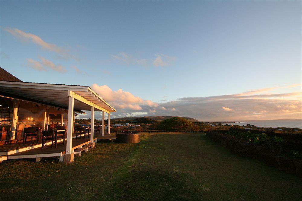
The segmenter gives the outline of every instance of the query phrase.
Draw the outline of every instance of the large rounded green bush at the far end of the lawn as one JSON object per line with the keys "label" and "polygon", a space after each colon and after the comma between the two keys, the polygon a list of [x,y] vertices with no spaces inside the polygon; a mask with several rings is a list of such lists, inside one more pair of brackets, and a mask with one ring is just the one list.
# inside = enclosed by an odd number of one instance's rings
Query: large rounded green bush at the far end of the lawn
{"label": "large rounded green bush at the far end of the lawn", "polygon": [[158,129],[165,131],[188,132],[194,130],[194,124],[193,122],[181,117],[172,117],[160,122]]}

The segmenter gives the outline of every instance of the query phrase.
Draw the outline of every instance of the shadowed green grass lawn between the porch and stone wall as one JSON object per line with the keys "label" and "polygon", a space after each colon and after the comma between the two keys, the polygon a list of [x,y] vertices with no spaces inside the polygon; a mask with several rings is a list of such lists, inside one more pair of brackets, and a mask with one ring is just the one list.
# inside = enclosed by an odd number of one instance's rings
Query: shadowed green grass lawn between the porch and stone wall
{"label": "shadowed green grass lawn between the porch and stone wall", "polygon": [[98,143],[71,164],[0,164],[0,199],[301,200],[302,179],[233,155],[203,133],[141,133]]}

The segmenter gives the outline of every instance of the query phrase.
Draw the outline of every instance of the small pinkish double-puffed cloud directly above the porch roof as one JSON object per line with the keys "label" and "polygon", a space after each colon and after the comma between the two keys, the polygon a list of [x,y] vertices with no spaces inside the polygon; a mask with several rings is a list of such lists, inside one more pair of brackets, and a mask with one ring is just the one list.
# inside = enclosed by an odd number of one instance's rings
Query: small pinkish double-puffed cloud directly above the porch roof
{"label": "small pinkish double-puffed cloud directly above the porch roof", "polygon": [[43,57],[40,57],[41,61],[35,61],[34,59],[27,58],[27,66],[31,67],[34,70],[37,71],[48,71],[48,69],[51,69],[53,71],[57,71],[60,73],[65,73],[67,70],[65,67],[61,65],[55,65],[52,61],[49,61]]}

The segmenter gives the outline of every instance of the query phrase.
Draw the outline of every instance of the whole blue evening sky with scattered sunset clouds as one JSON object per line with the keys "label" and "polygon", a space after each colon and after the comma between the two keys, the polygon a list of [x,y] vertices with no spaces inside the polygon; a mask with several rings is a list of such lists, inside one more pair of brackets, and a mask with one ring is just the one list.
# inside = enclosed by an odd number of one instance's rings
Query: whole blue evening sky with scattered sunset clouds
{"label": "whole blue evening sky with scattered sunset clouds", "polygon": [[0,66],[90,86],[111,118],[302,118],[301,16],[301,1],[0,1]]}

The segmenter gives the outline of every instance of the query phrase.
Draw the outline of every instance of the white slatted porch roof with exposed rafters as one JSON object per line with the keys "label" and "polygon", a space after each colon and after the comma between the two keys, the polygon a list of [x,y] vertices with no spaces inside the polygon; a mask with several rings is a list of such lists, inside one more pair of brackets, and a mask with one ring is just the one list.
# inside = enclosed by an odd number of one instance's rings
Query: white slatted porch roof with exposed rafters
{"label": "white slatted porch roof with exposed rafters", "polygon": [[68,108],[69,96],[75,98],[75,110],[116,110],[88,86],[0,81],[0,91]]}

